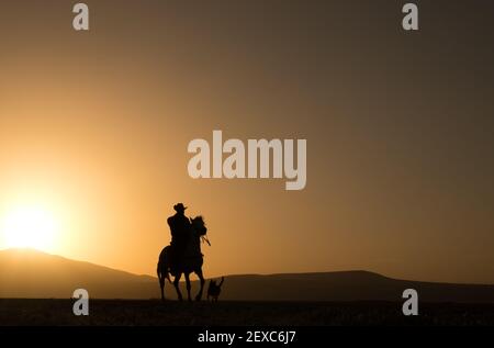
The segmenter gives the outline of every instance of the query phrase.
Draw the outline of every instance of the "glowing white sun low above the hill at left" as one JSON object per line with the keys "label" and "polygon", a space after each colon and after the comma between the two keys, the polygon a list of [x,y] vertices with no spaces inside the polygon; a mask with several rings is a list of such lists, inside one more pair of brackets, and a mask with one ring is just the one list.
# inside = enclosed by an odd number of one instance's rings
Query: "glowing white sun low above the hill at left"
{"label": "glowing white sun low above the hill at left", "polygon": [[21,206],[7,212],[0,227],[5,248],[50,251],[58,234],[55,217],[40,206]]}

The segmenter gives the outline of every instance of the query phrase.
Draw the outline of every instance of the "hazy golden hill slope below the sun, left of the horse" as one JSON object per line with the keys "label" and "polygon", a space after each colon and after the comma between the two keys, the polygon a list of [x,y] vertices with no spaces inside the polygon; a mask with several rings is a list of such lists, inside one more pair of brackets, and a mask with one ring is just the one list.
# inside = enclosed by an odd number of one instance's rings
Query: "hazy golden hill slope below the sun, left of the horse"
{"label": "hazy golden hill slope below the sun, left of the horse", "polygon": [[0,298],[69,299],[82,288],[102,299],[157,298],[153,277],[75,261],[30,249],[0,251]]}

